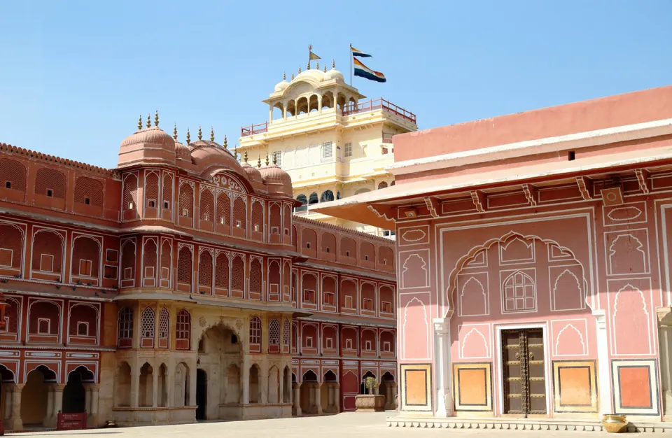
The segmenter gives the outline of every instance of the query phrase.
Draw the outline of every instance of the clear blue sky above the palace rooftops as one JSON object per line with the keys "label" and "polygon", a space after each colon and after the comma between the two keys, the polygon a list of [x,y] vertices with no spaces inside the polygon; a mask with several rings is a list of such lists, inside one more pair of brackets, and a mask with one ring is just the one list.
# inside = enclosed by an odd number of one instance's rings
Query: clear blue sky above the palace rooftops
{"label": "clear blue sky above the palace rooftops", "polygon": [[307,46],[421,128],[672,83],[672,1],[0,1],[0,142],[115,167],[158,108],[237,142]]}

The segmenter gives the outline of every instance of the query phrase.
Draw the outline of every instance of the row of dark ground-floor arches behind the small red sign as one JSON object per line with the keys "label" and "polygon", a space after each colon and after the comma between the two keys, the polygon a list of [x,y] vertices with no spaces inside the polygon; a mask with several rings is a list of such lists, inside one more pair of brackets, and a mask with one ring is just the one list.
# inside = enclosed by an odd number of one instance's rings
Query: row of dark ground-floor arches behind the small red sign
{"label": "row of dark ground-floor arches behind the small red sign", "polygon": [[54,428],[59,412],[87,414],[90,422],[98,413],[99,386],[94,374],[80,366],[58,383],[56,372],[40,365],[17,384],[14,373],[0,365],[0,415],[6,429]]}

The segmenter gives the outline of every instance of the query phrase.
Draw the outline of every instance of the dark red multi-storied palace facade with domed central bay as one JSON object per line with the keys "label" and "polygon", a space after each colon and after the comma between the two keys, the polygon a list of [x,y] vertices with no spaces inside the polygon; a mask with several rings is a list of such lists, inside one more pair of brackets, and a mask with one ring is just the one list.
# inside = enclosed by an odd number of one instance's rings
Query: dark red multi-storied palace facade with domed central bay
{"label": "dark red multi-storied palace facade with domed central bay", "polygon": [[338,412],[367,375],[393,407],[393,243],[296,205],[158,117],[113,170],[0,144],[5,428]]}

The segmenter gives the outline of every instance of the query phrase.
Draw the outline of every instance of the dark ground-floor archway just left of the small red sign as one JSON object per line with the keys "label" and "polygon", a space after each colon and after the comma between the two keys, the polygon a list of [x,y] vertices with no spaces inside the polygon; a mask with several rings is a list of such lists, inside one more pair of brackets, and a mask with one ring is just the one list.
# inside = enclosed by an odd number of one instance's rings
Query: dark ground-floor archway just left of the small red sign
{"label": "dark ground-floor archway just left of the small red sign", "polygon": [[47,416],[50,383],[56,383],[56,373],[40,365],[28,373],[26,386],[21,392],[21,419],[24,426],[41,426]]}

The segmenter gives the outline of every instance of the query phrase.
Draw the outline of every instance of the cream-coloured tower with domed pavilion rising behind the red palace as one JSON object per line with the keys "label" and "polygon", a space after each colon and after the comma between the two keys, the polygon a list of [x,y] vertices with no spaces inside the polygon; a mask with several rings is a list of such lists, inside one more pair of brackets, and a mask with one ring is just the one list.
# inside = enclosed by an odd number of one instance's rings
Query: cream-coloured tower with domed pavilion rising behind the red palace
{"label": "cream-coloured tower with domed pavilion rising behind the red palace", "polygon": [[392,136],[416,131],[416,117],[384,99],[347,85],[335,69],[283,77],[268,99],[268,122],[241,128],[238,152],[248,162],[276,161],[292,177],[295,214],[360,231],[383,229],[311,211],[316,204],[393,184],[384,168],[394,162]]}

